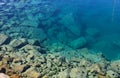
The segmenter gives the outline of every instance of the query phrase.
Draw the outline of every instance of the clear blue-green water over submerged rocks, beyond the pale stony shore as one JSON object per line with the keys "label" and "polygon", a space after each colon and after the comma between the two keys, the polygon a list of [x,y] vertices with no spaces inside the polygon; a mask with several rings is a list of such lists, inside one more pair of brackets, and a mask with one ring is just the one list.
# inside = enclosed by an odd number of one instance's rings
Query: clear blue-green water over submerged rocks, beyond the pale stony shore
{"label": "clear blue-green water over submerged rocks, beyond the pale stony shore", "polygon": [[119,4],[119,0],[3,0],[0,31],[43,44],[60,42],[75,50],[85,47],[119,59]]}

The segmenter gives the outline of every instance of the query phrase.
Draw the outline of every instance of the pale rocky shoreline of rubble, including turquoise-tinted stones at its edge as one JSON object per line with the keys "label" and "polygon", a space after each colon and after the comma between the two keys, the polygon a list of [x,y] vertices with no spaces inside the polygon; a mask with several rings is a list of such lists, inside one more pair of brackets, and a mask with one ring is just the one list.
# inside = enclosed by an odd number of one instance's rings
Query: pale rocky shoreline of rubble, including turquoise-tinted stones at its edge
{"label": "pale rocky shoreline of rubble, including turquoise-tinted stones at its edge", "polygon": [[120,60],[109,61],[102,53],[87,48],[65,51],[60,47],[56,50],[55,45],[50,49],[35,43],[0,34],[0,77],[120,78]]}

